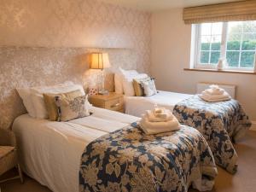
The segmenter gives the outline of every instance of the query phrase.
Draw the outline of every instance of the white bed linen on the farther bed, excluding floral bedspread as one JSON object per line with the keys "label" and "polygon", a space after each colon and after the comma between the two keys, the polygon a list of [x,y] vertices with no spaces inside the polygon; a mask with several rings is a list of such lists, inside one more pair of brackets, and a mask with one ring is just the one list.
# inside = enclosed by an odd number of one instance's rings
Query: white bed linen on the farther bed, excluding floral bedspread
{"label": "white bed linen on the farther bed, excluding floral bedspread", "polygon": [[156,95],[148,97],[125,96],[125,113],[141,117],[146,110],[153,109],[155,103],[159,107],[168,108],[172,111],[177,102],[181,102],[189,96],[192,95],[162,90],[159,90]]}

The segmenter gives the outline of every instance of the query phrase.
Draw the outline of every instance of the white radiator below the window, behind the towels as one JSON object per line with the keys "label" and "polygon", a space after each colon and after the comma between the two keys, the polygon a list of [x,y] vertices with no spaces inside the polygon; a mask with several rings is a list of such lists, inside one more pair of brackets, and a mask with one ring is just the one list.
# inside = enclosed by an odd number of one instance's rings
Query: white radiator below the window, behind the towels
{"label": "white radiator below the window, behind the towels", "polygon": [[[197,93],[201,93],[203,90],[207,90],[211,84],[215,83],[198,83],[197,84]],[[230,96],[234,99],[236,99],[236,85],[232,84],[218,84],[219,87],[227,91]]]}

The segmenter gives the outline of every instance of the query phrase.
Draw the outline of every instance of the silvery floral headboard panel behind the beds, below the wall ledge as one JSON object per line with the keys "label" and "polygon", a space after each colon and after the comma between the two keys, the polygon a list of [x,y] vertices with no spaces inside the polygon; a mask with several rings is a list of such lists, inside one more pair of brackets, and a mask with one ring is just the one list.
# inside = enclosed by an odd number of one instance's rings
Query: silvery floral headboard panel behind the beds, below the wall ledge
{"label": "silvery floral headboard panel behind the beds, below the wall ledge", "polygon": [[[58,84],[70,80],[84,87],[94,82],[89,70],[86,48],[0,47],[0,128],[8,129],[14,119],[26,113],[15,88]],[[137,68],[132,49],[104,49],[112,68],[107,73],[106,87],[113,90],[113,72],[117,67]]]}

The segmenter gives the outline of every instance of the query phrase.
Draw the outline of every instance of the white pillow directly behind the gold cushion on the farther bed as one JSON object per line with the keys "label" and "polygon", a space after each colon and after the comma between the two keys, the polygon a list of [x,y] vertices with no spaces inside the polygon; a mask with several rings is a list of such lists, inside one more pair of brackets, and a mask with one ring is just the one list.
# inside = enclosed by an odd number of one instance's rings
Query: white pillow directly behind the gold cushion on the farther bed
{"label": "white pillow directly behind the gold cushion on the farther bed", "polygon": [[124,78],[123,87],[124,87],[125,96],[135,96],[135,92],[133,88],[133,79],[144,79],[144,78],[148,78],[148,75],[145,73],[130,75]]}

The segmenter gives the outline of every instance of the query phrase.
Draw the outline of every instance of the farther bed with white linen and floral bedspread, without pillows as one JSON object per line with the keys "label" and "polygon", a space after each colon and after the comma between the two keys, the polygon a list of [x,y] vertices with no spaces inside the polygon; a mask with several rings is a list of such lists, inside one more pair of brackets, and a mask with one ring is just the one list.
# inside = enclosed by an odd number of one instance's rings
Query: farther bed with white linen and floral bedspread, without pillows
{"label": "farther bed with white linen and floral bedspread, without pillows", "polygon": [[237,171],[237,154],[232,142],[243,137],[251,121],[239,102],[205,102],[198,95],[158,91],[154,96],[125,96],[125,113],[141,117],[154,105],[168,108],[183,125],[194,127],[207,140],[216,164],[230,173]]}

